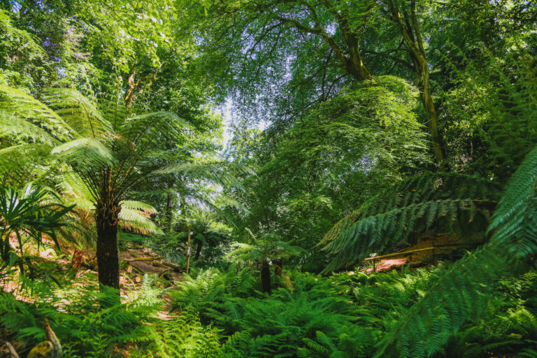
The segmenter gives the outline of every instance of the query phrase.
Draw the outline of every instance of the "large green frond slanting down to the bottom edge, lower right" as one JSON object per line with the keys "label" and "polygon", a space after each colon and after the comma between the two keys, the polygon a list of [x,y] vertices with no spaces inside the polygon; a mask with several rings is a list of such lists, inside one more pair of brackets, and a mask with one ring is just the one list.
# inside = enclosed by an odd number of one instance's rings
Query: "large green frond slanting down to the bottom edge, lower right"
{"label": "large green frond slanting down to the bottom edge, lower right", "polygon": [[492,296],[498,274],[506,268],[490,248],[466,255],[441,273],[382,339],[375,357],[384,357],[387,350],[401,357],[431,357],[466,320],[477,317]]}

